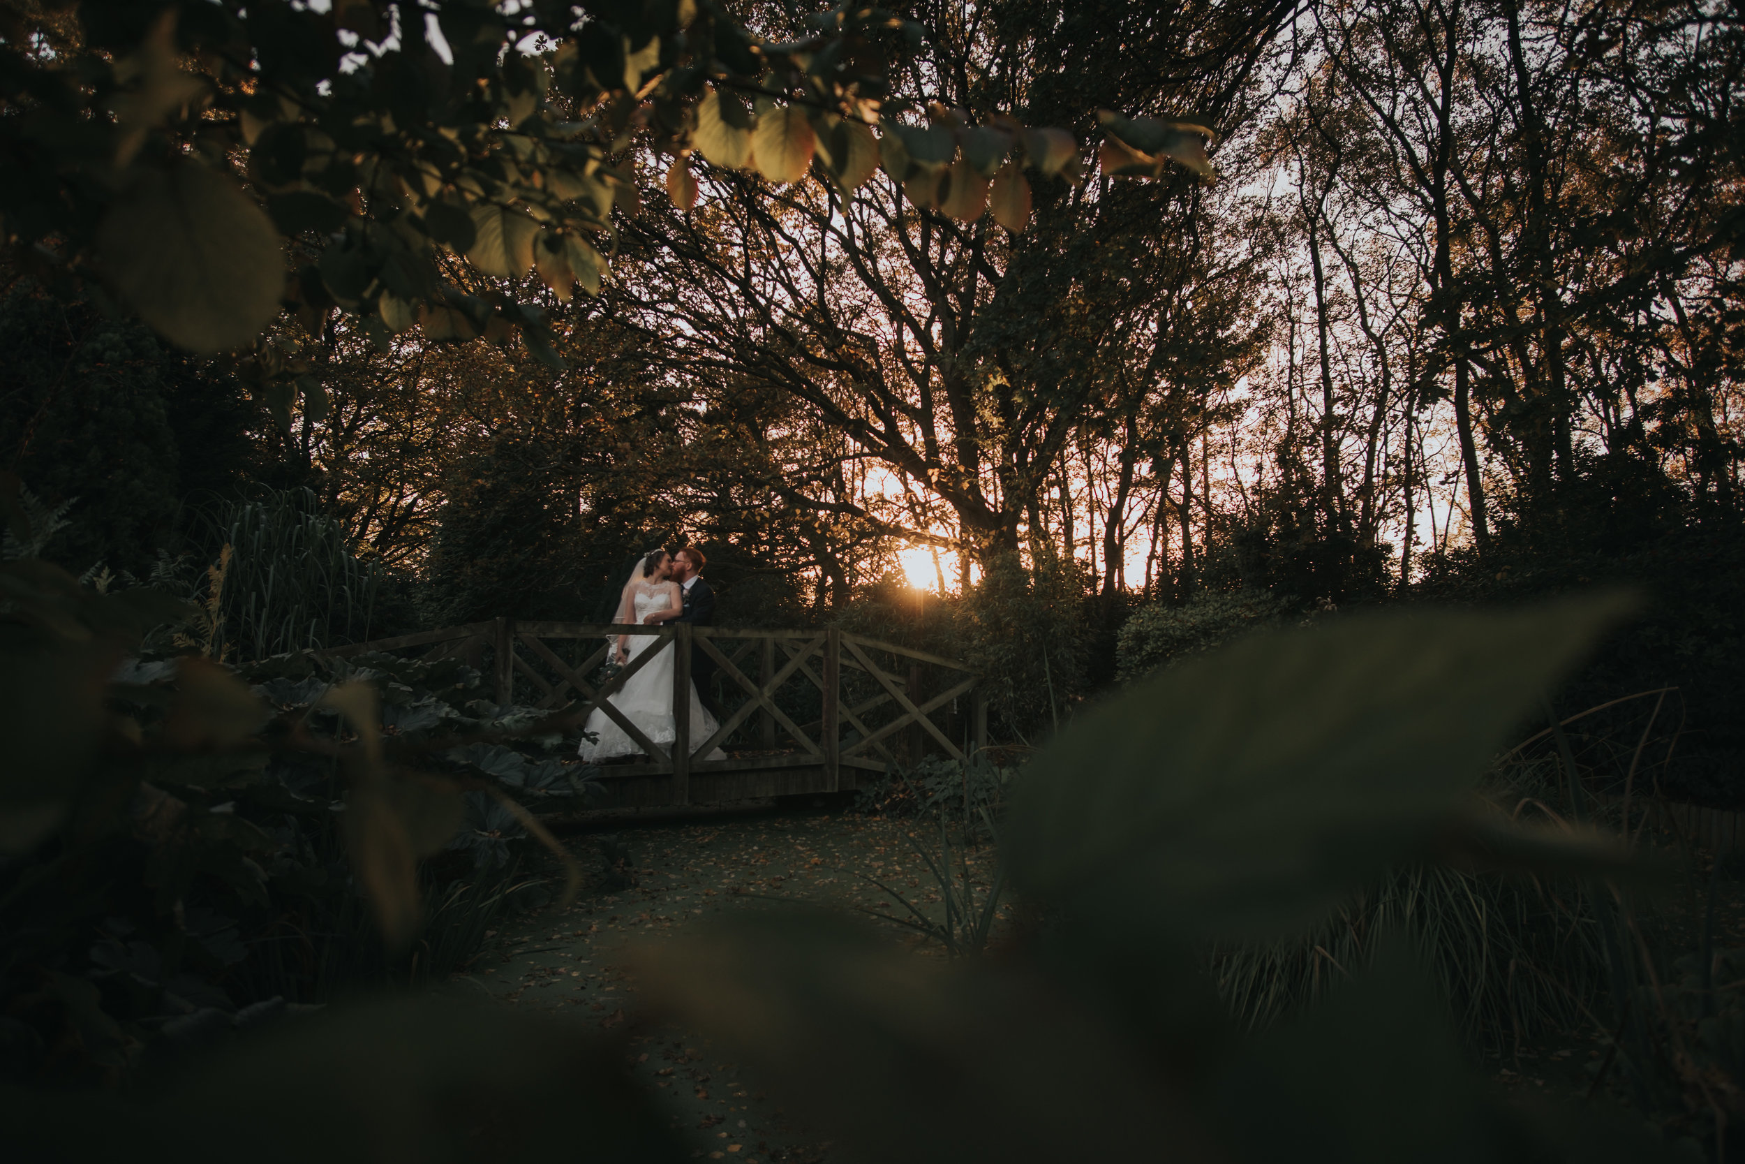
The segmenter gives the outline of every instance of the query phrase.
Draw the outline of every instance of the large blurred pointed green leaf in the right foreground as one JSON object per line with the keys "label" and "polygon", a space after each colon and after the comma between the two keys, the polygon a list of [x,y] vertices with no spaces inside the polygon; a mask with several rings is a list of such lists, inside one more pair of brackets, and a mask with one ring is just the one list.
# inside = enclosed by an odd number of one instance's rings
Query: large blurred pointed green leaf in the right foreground
{"label": "large blurred pointed green leaf in the right foreground", "polygon": [[1358,616],[1169,668],[1024,771],[1014,881],[1091,925],[1181,941],[1310,921],[1422,855],[1541,689],[1628,606]]}

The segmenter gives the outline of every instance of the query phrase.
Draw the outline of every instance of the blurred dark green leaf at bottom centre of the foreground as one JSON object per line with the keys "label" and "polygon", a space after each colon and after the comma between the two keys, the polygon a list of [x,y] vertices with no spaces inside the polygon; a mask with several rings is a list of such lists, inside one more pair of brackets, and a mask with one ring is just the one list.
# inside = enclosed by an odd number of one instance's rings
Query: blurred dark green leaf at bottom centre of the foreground
{"label": "blurred dark green leaf at bottom centre of the foreground", "polygon": [[864,1161],[1222,1154],[1190,1098],[1017,969],[942,969],[831,916],[745,918],[639,955],[644,998],[729,1044]]}

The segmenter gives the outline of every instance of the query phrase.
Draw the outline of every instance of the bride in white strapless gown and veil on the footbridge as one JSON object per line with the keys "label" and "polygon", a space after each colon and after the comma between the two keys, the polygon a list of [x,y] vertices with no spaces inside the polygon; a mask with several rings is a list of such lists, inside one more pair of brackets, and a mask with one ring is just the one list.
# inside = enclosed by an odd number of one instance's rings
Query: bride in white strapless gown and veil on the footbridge
{"label": "bride in white strapless gown and veil on the footbridge", "polygon": [[[623,600],[618,604],[618,614],[612,621],[653,627],[679,618],[684,611],[684,595],[679,590],[679,583],[668,576],[670,571],[672,555],[665,550],[656,550],[642,558],[640,565],[630,574],[630,581],[625,583]],[[616,660],[628,665],[653,646],[653,633],[618,635]],[[644,663],[637,674],[630,675],[623,688],[607,696],[607,703],[623,712],[625,719],[661,747],[670,747],[677,735],[672,716],[672,667],[674,644],[667,642],[660,647],[660,654]],[[703,702],[696,695],[696,684],[691,684],[689,695],[691,743],[700,745],[715,735],[721,724],[703,709]],[[581,747],[576,749],[576,754],[586,763],[611,759],[612,756],[642,756],[642,747],[604,709],[593,709],[585,731],[595,738],[590,743],[585,736]],[[717,747],[705,759],[726,759],[726,754]]]}

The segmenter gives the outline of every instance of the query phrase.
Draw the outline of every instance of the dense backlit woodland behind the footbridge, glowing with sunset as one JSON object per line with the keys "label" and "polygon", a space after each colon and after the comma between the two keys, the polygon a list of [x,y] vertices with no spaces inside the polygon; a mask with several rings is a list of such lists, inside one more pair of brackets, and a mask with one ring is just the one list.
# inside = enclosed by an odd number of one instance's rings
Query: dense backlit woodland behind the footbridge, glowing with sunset
{"label": "dense backlit woodland behind the footbridge, glowing with sunset", "polygon": [[[701,168],[682,211],[649,169],[599,297],[515,288],[565,370],[305,309],[276,339],[325,394],[288,428],[246,366],[19,265],[0,466],[65,506],[47,555],[197,588],[215,515],[272,499],[339,524],[393,633],[599,618],[628,555],[695,539],[726,621],[1009,677],[1007,738],[1178,639],[1626,581],[1644,616],[1562,698],[1677,686],[1663,791],[1745,799],[1733,9],[911,14],[946,103],[1080,136],[1192,110],[1216,178],[1038,178],[1010,234],[885,175],[845,206]],[[914,546],[934,593],[897,571]]]}

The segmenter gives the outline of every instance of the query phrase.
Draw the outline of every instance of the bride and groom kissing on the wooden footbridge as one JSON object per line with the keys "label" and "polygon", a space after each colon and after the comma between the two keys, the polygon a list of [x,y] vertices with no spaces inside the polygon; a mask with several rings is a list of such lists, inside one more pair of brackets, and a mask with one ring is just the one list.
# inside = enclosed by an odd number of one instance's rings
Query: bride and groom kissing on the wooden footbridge
{"label": "bride and groom kissing on the wooden footbridge", "polygon": [[[646,555],[632,571],[618,602],[614,623],[633,627],[660,627],[661,623],[693,623],[708,627],[715,621],[715,592],[700,576],[707,565],[703,551],[696,546],[684,546],[674,553],[654,550]],[[612,635],[616,646],[612,658],[621,665],[630,665],[647,651],[654,649],[654,633]],[[651,742],[670,747],[677,738],[672,705],[672,668],[674,644],[665,642],[654,658],[647,660],[625,686],[606,696],[606,702],[618,709],[625,719],[633,722]],[[714,660],[700,646],[691,647],[691,743],[701,745],[715,735],[721,721],[708,714],[698,696],[696,684],[707,681],[715,670]],[[585,763],[599,763],[614,756],[642,756],[642,747],[618,726],[604,709],[597,707],[588,716],[585,735],[576,754]],[[593,736],[590,742],[588,736]],[[654,757],[649,757],[654,759]],[[719,747],[703,759],[726,759]]]}

